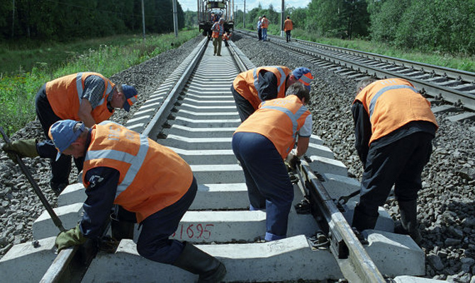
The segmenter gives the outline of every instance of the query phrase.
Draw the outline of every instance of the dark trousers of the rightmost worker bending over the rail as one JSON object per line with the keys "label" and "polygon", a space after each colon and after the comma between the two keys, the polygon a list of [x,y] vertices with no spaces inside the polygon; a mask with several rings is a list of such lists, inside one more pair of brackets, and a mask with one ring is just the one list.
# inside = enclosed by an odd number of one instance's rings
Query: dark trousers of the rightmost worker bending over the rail
{"label": "dark trousers of the rightmost worker bending over the rail", "polygon": [[359,208],[377,215],[394,185],[396,199],[417,200],[422,188],[420,175],[432,154],[431,134],[416,132],[379,149],[369,147],[361,183]]}

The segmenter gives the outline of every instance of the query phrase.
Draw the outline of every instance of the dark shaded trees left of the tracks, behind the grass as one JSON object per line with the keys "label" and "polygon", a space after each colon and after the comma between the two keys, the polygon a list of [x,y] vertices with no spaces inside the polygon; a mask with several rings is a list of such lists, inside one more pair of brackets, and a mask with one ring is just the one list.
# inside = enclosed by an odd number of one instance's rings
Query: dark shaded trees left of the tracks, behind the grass
{"label": "dark shaded trees left of the tracks, behind the grass", "polygon": [[[5,0],[0,2],[2,40],[72,40],[123,33],[173,32],[172,0]],[[177,1],[179,28],[184,13]]]}

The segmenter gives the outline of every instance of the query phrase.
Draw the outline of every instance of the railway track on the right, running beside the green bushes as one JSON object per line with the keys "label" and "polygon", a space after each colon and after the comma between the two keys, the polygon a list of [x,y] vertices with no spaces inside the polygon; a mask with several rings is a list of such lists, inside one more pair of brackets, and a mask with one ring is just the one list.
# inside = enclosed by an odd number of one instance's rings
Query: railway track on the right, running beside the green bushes
{"label": "railway track on the right, running beside the green bushes", "polygon": [[[257,37],[255,33],[244,30],[238,30],[238,33]],[[475,73],[306,40],[288,43],[282,37],[270,38],[272,44],[350,78],[374,76],[378,79],[407,79],[433,104],[442,105],[435,111],[455,112],[452,120],[475,119]]]}

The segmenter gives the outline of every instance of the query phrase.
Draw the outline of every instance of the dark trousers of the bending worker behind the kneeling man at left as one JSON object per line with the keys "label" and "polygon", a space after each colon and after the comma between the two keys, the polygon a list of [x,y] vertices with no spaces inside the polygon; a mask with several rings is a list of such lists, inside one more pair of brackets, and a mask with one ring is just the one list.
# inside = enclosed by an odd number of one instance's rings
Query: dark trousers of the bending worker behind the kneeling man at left
{"label": "dark trousers of the bending worker behind the kneeling man at left", "polygon": [[[38,116],[38,120],[40,121],[41,127],[43,128],[45,138],[49,140],[50,137],[48,136],[48,132],[50,130],[51,125],[62,119],[60,117],[57,117],[57,115],[55,115],[55,112],[53,112],[50,102],[47,100],[46,97],[45,87],[46,84],[44,84],[40,88],[40,91],[38,91],[38,93],[36,94],[35,108],[36,115]],[[62,154],[61,157],[57,161],[55,161],[55,154],[57,154],[57,149],[51,142],[43,142],[38,144],[38,153],[41,157],[52,158],[50,161],[52,173],[52,178],[50,180],[51,187],[54,190],[57,190],[59,186],[68,185],[69,173],[71,172],[72,157]],[[74,158],[74,163],[76,164],[78,171],[82,171],[84,158]]]}

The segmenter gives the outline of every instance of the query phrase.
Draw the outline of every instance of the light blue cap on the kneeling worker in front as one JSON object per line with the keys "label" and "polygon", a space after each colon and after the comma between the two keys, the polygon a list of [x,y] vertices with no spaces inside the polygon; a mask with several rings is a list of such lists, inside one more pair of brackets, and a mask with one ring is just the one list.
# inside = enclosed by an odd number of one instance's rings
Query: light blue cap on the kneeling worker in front
{"label": "light blue cap on the kneeling worker in front", "polygon": [[84,132],[86,127],[83,122],[74,120],[60,120],[51,125],[48,135],[57,149],[56,160]]}

